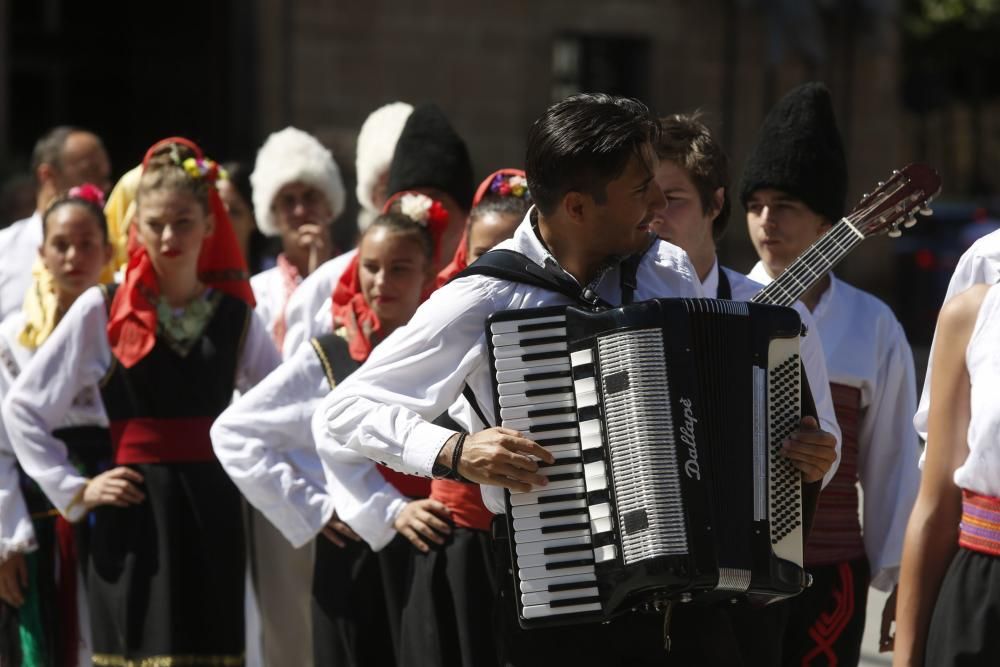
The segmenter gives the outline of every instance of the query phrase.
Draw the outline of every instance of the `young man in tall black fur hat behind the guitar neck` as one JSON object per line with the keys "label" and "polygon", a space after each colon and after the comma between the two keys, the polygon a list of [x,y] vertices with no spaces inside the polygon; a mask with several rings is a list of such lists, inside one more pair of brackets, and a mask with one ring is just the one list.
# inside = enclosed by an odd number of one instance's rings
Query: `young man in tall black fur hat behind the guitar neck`
{"label": "young man in tall black fur hat behind the guitar neck", "polygon": [[[749,276],[775,279],[844,214],[847,166],[830,93],[819,83],[771,110],[747,160],[740,201],[760,262]],[[805,549],[814,577],[781,603],[784,665],[856,665],[869,583],[895,591],[903,533],[919,486],[913,356],[892,311],[827,274],[802,297],[823,343],[842,431],[841,461],[820,496]],[[864,488],[864,532],[857,483]],[[895,594],[883,613],[891,648]],[[770,664],[770,663],[769,663]]]}

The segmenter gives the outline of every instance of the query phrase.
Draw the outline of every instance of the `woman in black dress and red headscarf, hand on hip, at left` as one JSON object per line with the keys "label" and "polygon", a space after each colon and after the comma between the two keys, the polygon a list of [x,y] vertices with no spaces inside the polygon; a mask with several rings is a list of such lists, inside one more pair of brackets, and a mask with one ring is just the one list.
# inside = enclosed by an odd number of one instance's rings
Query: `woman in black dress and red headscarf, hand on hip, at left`
{"label": "woman in black dress and red headscarf, hand on hip, at left", "polygon": [[[3,405],[25,472],[62,516],[91,523],[98,666],[244,661],[241,499],[209,427],[278,356],[218,175],[185,139],[147,152],[124,282],[77,299]],[[93,385],[113,467],[88,477],[52,431]]]}

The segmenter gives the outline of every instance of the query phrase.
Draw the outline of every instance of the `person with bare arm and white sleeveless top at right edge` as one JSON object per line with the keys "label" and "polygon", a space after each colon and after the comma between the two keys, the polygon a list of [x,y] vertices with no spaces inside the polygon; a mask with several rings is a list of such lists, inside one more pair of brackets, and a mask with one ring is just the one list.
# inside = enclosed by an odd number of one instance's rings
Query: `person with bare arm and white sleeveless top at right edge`
{"label": "person with bare arm and white sleeveless top at right edge", "polygon": [[1000,661],[1000,286],[941,309],[920,492],[896,605],[894,665]]}

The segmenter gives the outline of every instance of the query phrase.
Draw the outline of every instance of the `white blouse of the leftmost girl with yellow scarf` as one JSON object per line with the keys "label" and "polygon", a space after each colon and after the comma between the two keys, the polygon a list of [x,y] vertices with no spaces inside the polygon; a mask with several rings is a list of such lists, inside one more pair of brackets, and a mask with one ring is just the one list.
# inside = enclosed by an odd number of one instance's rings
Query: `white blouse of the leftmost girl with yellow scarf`
{"label": "white blouse of the leftmost girl with yellow scarf", "polygon": [[[24,315],[14,313],[0,324],[0,400],[10,393],[14,381],[35,354],[18,341],[24,328]],[[107,427],[101,394],[95,385],[85,387],[74,399],[60,427]],[[35,532],[21,493],[17,458],[0,418],[0,562],[15,552],[26,553],[36,548]]]}

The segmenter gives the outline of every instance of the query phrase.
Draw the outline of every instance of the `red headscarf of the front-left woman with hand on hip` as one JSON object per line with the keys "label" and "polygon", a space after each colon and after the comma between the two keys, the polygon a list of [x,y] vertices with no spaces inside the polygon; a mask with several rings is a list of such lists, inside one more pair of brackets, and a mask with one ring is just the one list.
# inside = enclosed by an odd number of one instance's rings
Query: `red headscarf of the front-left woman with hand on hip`
{"label": "red headscarf of the front-left woman with hand on hip", "polygon": [[[170,137],[156,142],[146,151],[146,157],[142,161],[143,169],[157,150],[172,143],[187,146],[199,161],[205,159],[201,148],[194,142],[183,137]],[[206,177],[211,178],[212,175],[201,178]],[[202,243],[198,256],[198,278],[206,285],[242,299],[252,307],[255,302],[246,260],[240,251],[229,214],[214,185],[209,186],[208,203],[215,218],[215,230]],[[107,327],[111,350],[126,368],[137,364],[156,344],[154,303],[160,293],[153,262],[149,259],[146,248],[136,238],[135,225],[129,230],[128,250],[125,281],[115,292],[115,298],[111,302]]]}

